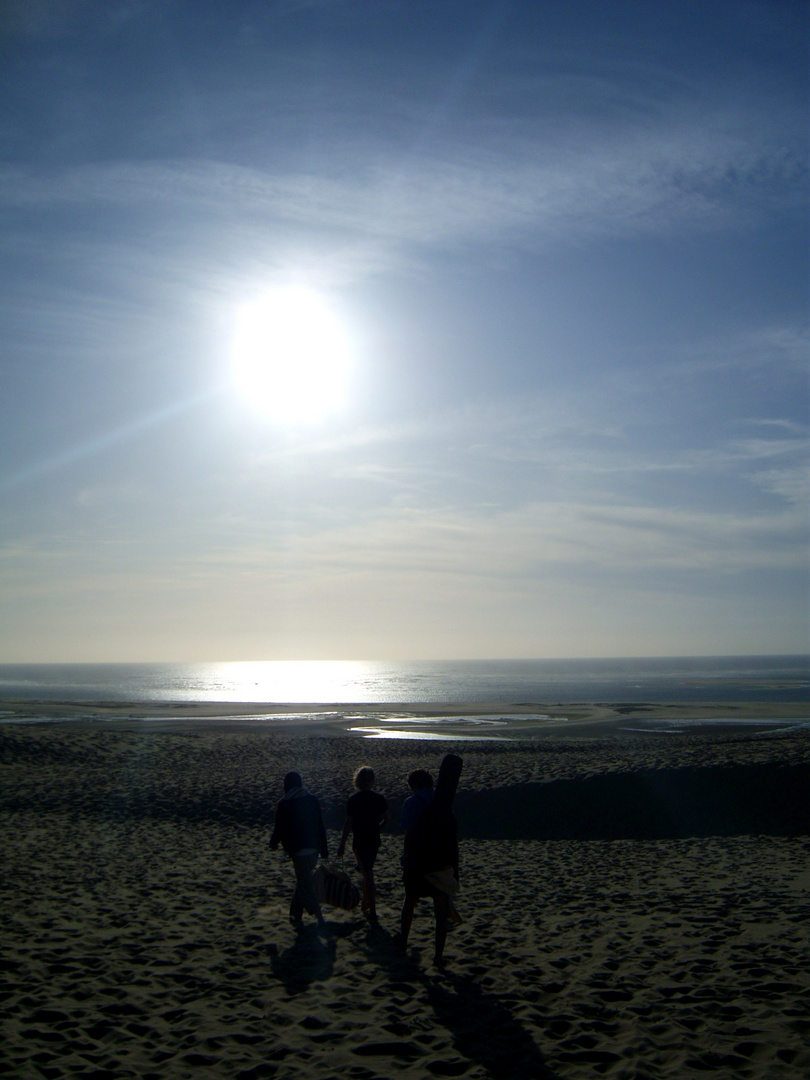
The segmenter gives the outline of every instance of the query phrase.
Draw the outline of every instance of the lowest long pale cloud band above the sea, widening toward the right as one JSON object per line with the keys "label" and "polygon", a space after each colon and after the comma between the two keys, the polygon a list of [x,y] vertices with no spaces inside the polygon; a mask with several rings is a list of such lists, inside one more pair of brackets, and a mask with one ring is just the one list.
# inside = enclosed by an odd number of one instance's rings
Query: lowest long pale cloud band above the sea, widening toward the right
{"label": "lowest long pale cloud band above the sea, widening toward the right", "polygon": [[280,537],[261,549],[212,550],[202,556],[201,566],[216,573],[249,568],[257,580],[268,573],[351,573],[391,581],[450,576],[505,583],[581,570],[629,577],[650,570],[801,570],[806,543],[807,523],[793,512],[745,515],[536,503],[485,516],[403,510],[299,535],[289,549]]}

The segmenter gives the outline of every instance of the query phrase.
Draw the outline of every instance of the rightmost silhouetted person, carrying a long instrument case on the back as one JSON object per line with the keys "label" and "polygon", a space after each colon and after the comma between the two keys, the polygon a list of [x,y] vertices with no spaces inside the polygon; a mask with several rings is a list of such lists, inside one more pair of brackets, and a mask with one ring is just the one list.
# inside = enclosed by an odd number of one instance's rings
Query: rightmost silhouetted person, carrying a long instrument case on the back
{"label": "rightmost silhouetted person, carrying a long instrument case on the back", "polygon": [[405,829],[402,868],[405,885],[405,903],[402,905],[402,946],[408,943],[410,926],[417,901],[422,896],[433,900],[436,920],[433,962],[442,963],[450,916],[450,892],[440,888],[442,877],[458,886],[458,834],[456,819],[449,802],[435,807],[433,778],[427,769],[415,769],[408,775],[408,787],[414,793],[402,808],[401,825]]}

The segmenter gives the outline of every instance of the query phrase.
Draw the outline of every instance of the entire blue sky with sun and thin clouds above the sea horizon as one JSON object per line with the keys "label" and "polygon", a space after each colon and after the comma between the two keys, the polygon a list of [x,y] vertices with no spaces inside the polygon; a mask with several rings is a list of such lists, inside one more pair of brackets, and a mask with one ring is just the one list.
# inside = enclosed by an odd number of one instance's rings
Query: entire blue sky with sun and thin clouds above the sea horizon
{"label": "entire blue sky with sun and thin clouds above the sea horizon", "polygon": [[807,2],[0,12],[0,660],[810,652]]}

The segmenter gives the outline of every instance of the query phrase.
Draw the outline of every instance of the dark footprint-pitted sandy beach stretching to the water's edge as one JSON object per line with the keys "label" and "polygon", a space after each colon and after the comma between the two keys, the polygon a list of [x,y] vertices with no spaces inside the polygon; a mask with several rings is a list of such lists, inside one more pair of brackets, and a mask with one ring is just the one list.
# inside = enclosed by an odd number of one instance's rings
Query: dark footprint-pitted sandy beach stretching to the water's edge
{"label": "dark footprint-pitted sandy beach stretching to the water's edge", "polygon": [[[810,732],[800,706],[712,707],[4,702],[0,1072],[804,1078]],[[449,750],[463,922],[436,969],[428,902],[393,940],[396,822]],[[380,927],[296,933],[283,774],[334,851],[362,764],[394,821]]]}

